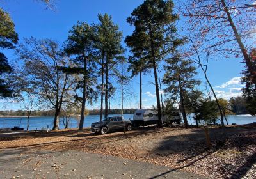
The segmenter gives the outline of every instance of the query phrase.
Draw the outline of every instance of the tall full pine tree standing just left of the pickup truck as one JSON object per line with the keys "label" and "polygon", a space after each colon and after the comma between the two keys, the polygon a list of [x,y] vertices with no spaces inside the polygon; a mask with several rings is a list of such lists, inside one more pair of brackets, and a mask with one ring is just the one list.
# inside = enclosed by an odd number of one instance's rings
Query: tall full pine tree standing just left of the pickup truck
{"label": "tall full pine tree standing just left of the pickup truck", "polygon": [[[76,99],[82,103],[79,130],[83,130],[86,102],[97,99],[97,92],[93,89],[97,82],[93,55],[94,31],[85,22],[77,22],[77,25],[73,26],[69,33],[65,43],[65,52],[74,57],[73,60],[77,66],[70,66],[65,71],[83,76],[76,87]],[[79,89],[83,93],[82,97],[79,97],[77,93]]]}

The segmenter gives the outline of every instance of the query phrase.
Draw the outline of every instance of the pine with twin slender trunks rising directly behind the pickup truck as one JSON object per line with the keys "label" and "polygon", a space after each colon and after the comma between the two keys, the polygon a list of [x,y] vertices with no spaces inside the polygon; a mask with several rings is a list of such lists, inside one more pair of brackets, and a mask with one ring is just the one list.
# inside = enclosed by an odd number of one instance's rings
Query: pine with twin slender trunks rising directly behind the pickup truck
{"label": "pine with twin slender trunks rising directly behind the pickup truck", "polygon": [[[122,32],[119,27],[113,23],[112,17],[108,14],[98,15],[99,24],[94,24],[95,28],[95,48],[100,56],[100,75],[101,75],[101,98],[100,98],[100,120],[103,113],[103,96],[105,95],[105,113],[104,118],[108,116],[108,98],[109,98],[109,72],[115,66],[116,58],[124,52],[121,46]],[[105,82],[104,82],[105,75]]]}

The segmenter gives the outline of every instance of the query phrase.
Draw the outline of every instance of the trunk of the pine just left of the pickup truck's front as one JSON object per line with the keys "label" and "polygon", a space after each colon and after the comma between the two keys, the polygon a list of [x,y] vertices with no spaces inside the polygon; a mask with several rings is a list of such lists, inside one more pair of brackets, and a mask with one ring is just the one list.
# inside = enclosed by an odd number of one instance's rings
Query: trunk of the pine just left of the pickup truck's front
{"label": "trunk of the pine just left of the pickup truck's front", "polygon": [[86,73],[87,73],[87,58],[84,57],[84,76],[83,76],[83,97],[82,97],[82,109],[81,109],[81,118],[79,122],[79,130],[84,128],[84,112],[86,104]]}

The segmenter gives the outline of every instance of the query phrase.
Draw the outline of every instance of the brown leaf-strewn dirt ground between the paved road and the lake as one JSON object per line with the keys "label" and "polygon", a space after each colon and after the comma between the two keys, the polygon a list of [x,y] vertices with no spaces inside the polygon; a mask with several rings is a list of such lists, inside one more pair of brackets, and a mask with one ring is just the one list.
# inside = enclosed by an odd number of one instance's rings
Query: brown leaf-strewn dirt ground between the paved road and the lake
{"label": "brown leaf-strewn dirt ground between the paved road and the lake", "polygon": [[[131,132],[96,135],[86,128],[49,133],[3,133],[0,152],[23,148],[35,150],[82,150],[124,159],[151,162],[175,170],[190,171],[210,178],[256,178],[256,125],[210,127],[211,149],[205,146],[203,128],[147,127]],[[2,133],[2,134],[1,134]]]}

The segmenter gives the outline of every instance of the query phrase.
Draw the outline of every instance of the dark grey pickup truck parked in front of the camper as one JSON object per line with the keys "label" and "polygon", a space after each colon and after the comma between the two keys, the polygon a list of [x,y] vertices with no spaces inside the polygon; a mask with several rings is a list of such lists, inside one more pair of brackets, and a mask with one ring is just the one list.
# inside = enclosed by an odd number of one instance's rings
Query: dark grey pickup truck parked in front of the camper
{"label": "dark grey pickup truck parked in front of the camper", "polygon": [[132,123],[130,120],[124,120],[122,116],[114,116],[105,118],[103,121],[92,123],[91,130],[95,133],[107,134],[114,130],[132,130]]}

